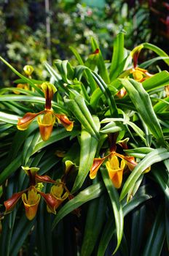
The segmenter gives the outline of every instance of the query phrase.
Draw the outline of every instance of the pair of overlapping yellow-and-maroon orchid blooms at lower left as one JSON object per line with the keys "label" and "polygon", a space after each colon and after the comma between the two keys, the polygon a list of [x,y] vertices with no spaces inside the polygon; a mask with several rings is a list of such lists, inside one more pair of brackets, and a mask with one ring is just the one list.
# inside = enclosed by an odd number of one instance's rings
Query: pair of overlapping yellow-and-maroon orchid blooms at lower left
{"label": "pair of overlapping yellow-and-maroon orchid blooms at lower left", "polygon": [[[47,203],[47,211],[55,214],[56,209],[63,200],[69,196],[66,185],[61,181],[54,181],[50,176],[39,176],[37,167],[23,167],[29,178],[29,187],[23,191],[17,192],[4,202],[6,208],[5,214],[8,214],[15,208],[18,200],[22,198],[25,207],[25,215],[29,220],[34,219],[39,206],[41,197]],[[42,192],[43,182],[53,184],[50,193]]]}

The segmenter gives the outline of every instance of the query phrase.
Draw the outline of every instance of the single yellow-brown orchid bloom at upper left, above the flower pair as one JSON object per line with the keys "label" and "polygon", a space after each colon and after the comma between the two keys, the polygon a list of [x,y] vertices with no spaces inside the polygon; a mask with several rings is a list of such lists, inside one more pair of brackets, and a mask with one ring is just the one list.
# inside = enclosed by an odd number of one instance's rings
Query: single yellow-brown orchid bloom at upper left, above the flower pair
{"label": "single yellow-brown orchid bloom at upper left, above the flower pair", "polygon": [[63,124],[67,131],[71,131],[74,127],[74,122],[70,121],[68,117],[64,114],[55,113],[52,110],[52,97],[57,91],[55,86],[51,83],[42,83],[42,91],[46,99],[44,110],[39,113],[25,113],[23,118],[19,118],[17,122],[17,129],[25,130],[31,124],[31,122],[38,117],[39,131],[42,140],[46,141],[50,138],[53,126],[56,119]]}

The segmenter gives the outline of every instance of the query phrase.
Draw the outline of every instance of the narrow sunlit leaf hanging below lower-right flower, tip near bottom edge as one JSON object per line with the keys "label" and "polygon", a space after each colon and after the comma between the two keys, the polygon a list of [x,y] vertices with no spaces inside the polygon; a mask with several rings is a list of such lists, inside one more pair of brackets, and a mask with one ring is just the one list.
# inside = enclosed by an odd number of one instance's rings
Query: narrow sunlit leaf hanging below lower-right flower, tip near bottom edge
{"label": "narrow sunlit leaf hanging below lower-right flower, tip near bottom edge", "polygon": [[109,193],[111,206],[114,211],[114,219],[117,233],[117,246],[114,249],[114,254],[115,252],[117,252],[117,249],[119,248],[120,242],[122,240],[124,217],[122,213],[122,205],[121,203],[119,203],[119,195],[117,193],[117,189],[115,189],[115,187],[113,186],[111,179],[109,178],[108,171],[106,169],[102,169],[101,174],[103,176],[103,181],[106,186],[107,192]]}

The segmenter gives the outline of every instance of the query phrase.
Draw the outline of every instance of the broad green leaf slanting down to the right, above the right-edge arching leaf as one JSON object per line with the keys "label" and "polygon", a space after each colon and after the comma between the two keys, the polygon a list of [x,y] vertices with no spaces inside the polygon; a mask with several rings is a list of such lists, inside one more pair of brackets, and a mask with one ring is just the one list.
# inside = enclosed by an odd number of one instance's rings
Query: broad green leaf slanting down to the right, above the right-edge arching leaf
{"label": "broad green leaf slanting down to the right, above the right-edge arching leaf", "polygon": [[136,82],[133,79],[120,79],[122,85],[125,86],[127,93],[130,96],[133,104],[135,105],[136,110],[143,118],[146,126],[149,128],[150,132],[154,135],[154,138],[157,139],[157,142],[165,146],[165,140],[162,135],[162,129],[160,123],[157,119],[157,116],[154,113],[152,108],[152,102],[149,97],[149,94],[144,90],[141,83]]}

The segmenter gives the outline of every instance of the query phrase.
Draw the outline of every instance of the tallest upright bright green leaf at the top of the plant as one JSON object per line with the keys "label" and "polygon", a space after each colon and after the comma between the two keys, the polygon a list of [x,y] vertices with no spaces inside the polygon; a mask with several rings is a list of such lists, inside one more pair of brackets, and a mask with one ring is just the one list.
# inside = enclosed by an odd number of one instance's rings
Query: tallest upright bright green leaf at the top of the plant
{"label": "tallest upright bright green leaf at the top of the plant", "polygon": [[[114,80],[122,72],[123,67],[120,66],[124,59],[124,33],[120,32],[114,39],[113,56],[110,66],[110,80]],[[120,69],[119,69],[120,67]]]}

